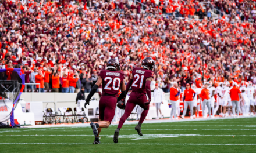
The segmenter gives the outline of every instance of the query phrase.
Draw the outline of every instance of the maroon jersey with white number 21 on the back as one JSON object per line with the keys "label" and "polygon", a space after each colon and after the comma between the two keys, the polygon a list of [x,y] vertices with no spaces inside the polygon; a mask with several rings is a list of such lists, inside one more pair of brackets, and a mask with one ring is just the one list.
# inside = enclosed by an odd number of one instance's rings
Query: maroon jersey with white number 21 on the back
{"label": "maroon jersey with white number 21 on the back", "polygon": [[146,94],[146,80],[150,77],[154,77],[153,71],[141,67],[133,68],[133,84],[131,85],[133,92]]}

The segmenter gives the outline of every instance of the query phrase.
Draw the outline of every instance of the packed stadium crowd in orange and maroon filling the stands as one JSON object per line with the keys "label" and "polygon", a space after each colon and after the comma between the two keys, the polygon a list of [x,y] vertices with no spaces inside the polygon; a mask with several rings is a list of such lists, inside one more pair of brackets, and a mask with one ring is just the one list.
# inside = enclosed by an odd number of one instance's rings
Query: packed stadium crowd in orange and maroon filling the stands
{"label": "packed stadium crowd in orange and maroon filling the stands", "polygon": [[90,92],[111,58],[128,82],[148,56],[157,63],[151,90],[155,83],[164,92],[173,82],[182,91],[187,83],[200,87],[202,76],[256,83],[255,1],[0,2],[1,67],[22,66],[26,83],[40,83],[41,92]]}

